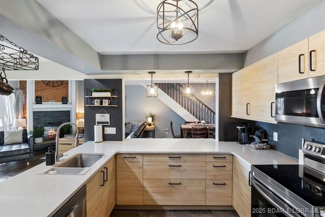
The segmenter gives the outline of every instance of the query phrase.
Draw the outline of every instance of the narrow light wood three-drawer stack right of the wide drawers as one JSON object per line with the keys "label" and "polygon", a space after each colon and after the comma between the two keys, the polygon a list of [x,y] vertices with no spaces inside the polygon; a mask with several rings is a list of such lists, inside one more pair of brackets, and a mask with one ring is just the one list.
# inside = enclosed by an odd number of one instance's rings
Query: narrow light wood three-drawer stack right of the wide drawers
{"label": "narrow light wood three-drawer stack right of the wide drawers", "polygon": [[206,155],[206,205],[232,205],[231,154]]}

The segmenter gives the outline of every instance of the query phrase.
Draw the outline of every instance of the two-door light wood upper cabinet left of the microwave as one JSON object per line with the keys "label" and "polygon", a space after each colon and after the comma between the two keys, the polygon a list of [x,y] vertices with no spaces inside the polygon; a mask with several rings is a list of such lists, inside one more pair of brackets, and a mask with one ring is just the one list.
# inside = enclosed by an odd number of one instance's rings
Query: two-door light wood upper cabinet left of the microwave
{"label": "two-door light wood upper cabinet left of the microwave", "polygon": [[277,54],[233,73],[232,117],[275,123],[277,81]]}

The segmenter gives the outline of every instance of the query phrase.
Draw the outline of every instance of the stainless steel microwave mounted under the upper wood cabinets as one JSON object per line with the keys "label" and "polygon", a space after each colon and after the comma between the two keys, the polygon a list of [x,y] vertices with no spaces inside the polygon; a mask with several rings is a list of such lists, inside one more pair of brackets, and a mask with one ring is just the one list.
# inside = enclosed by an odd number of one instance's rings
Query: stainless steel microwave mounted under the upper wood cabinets
{"label": "stainless steel microwave mounted under the upper wood cabinets", "polygon": [[325,75],[275,85],[275,120],[325,128]]}

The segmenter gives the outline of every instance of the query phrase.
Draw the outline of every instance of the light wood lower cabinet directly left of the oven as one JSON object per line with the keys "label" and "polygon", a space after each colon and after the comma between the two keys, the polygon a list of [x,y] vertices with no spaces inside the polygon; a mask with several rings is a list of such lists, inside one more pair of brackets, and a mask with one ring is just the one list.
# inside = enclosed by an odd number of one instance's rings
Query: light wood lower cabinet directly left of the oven
{"label": "light wood lower cabinet directly left of the oven", "polygon": [[233,157],[233,207],[241,217],[251,214],[250,165]]}

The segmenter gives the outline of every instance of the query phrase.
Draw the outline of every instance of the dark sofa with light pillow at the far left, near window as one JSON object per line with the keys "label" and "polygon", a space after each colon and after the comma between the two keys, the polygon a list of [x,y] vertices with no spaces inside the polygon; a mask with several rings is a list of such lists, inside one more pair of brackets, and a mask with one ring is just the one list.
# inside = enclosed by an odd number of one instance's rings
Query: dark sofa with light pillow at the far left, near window
{"label": "dark sofa with light pillow at the far left, near window", "polygon": [[33,148],[34,137],[27,130],[0,131],[0,163],[26,160],[29,165]]}

